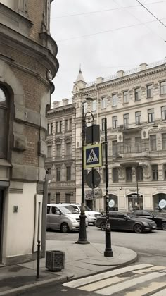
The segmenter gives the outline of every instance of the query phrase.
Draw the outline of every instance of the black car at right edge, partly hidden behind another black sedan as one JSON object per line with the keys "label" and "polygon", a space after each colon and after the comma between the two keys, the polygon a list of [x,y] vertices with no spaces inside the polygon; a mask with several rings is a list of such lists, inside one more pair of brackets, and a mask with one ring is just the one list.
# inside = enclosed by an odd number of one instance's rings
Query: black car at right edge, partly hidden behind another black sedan
{"label": "black car at right edge, partly hidden behind another black sedan", "polygon": [[157,228],[166,230],[166,217],[160,215],[158,211],[146,211],[146,210],[138,210],[132,211],[129,216],[139,216],[141,218],[146,218],[155,221]]}

